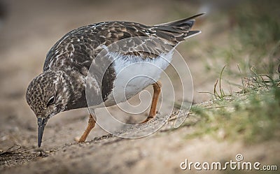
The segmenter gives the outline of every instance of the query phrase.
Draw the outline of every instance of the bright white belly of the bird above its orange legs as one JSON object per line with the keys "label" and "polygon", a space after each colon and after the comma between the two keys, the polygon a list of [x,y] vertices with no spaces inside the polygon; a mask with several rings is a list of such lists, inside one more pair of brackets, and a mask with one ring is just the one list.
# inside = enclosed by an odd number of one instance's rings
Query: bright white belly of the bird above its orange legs
{"label": "bright white belly of the bird above its orange legs", "polygon": [[141,57],[117,57],[115,62],[116,80],[113,91],[105,102],[106,106],[127,101],[160,79],[161,73],[172,61],[173,52],[155,59]]}

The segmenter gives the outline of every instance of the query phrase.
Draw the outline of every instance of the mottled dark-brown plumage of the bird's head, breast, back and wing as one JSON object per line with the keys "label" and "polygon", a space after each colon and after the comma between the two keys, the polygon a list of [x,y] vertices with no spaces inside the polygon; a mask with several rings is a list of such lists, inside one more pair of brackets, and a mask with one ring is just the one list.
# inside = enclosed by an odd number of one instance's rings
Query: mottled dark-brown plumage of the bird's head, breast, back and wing
{"label": "mottled dark-brown plumage of the bird's head, breast, back and wing", "polygon": [[[157,59],[181,41],[200,32],[190,31],[193,18],[199,15],[151,27],[136,22],[100,22],[74,29],[59,39],[47,54],[43,73],[31,81],[26,94],[27,103],[38,118],[38,146],[41,145],[43,129],[50,117],[65,110],[87,107],[87,74],[91,66],[105,67],[95,59],[104,48],[122,39],[133,38],[124,45],[114,45],[120,48],[118,54],[123,55],[121,59]],[[135,38],[137,36],[139,38]],[[148,39],[143,41],[141,37]],[[90,77],[93,81],[102,82],[93,85],[92,95],[101,96],[104,102],[111,94],[116,80],[114,64],[113,61],[106,67],[102,77]],[[101,100],[93,101],[93,104],[98,105]]]}

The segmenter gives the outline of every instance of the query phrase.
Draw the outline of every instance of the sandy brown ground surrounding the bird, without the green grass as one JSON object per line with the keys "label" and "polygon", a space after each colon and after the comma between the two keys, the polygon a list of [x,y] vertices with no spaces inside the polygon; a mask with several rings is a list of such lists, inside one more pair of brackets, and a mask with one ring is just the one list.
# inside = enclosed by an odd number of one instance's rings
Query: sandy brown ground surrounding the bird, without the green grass
{"label": "sandy brown ground surrounding the bird, without the green grass", "polygon": [[[50,119],[43,147],[36,147],[36,117],[27,106],[25,91],[31,79],[41,73],[46,52],[67,31],[110,20],[158,24],[177,20],[182,9],[191,9],[184,12],[188,16],[197,13],[201,7],[183,1],[97,3],[88,0],[3,1],[3,6],[7,10],[0,28],[0,173],[187,173],[180,168],[185,159],[193,162],[229,161],[235,160],[236,154],[243,154],[244,161],[260,161],[262,164],[278,161],[279,164],[279,141],[245,146],[241,140],[219,142],[207,136],[187,139],[192,127],[172,129],[174,121],[151,136],[132,140],[108,135],[96,126],[86,143],[75,143],[74,138],[83,133],[87,124],[86,109],[60,113]],[[198,92],[211,91],[216,80],[204,73],[205,60],[200,57],[203,50],[199,45],[213,41],[214,37],[216,43],[223,44],[222,38],[227,36],[221,31],[217,38],[213,26],[207,22],[207,16],[202,17],[195,27],[207,30],[178,48],[186,57],[193,75],[195,103],[210,99],[209,95]],[[189,50],[192,41],[197,46]],[[137,99],[133,101],[137,102]],[[167,101],[162,99],[162,103]],[[123,115],[116,107],[110,110],[117,117]],[[132,122],[144,119],[147,112],[133,118]],[[131,117],[125,119],[129,122]],[[146,126],[153,126],[155,122]],[[130,131],[137,134],[144,128],[139,126]]]}

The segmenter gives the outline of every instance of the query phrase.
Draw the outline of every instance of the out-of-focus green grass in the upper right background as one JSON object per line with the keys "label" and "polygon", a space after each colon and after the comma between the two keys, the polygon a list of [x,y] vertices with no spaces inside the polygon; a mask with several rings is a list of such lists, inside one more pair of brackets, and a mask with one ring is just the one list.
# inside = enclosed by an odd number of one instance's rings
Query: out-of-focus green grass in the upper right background
{"label": "out-of-focus green grass in the upper right background", "polygon": [[[228,65],[227,71],[224,72],[227,78],[237,78],[240,75],[237,64],[244,73],[243,76],[252,75],[252,67],[258,69],[259,73],[276,73],[275,66],[280,62],[279,5],[279,1],[276,0],[247,0],[233,8],[232,13],[226,15],[228,27],[223,30],[227,33],[228,41],[218,45],[216,42],[210,42],[203,48],[206,50],[204,57],[209,58],[205,62],[207,73],[220,73],[225,64]],[[218,36],[215,36],[215,39]]]}

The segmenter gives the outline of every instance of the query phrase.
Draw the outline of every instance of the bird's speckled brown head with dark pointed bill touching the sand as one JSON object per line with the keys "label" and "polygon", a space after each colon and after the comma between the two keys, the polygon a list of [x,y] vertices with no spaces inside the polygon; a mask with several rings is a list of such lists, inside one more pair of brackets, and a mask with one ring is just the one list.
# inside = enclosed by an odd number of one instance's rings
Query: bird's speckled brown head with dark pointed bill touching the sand
{"label": "bird's speckled brown head with dark pointed bill touching the sand", "polygon": [[38,147],[50,117],[65,110],[69,91],[61,71],[47,71],[34,78],[26,93],[26,100],[38,120]]}

